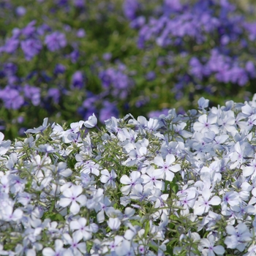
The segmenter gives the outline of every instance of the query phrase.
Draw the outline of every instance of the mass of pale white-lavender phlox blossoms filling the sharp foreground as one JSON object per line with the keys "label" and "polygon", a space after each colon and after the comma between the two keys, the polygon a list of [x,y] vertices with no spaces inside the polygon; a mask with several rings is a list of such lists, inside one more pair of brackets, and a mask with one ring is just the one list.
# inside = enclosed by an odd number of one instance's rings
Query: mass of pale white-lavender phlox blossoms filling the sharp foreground
{"label": "mass of pale white-lavender phlox blossoms filling the sharp foreground", "polygon": [[256,95],[0,133],[0,255],[256,255]]}

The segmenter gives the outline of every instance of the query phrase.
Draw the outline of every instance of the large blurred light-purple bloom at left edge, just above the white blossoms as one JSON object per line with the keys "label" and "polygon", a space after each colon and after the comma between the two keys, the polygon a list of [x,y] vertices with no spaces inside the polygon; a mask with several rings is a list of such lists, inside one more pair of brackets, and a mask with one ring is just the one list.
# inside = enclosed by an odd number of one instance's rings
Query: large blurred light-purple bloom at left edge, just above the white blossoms
{"label": "large blurred light-purple bloom at left edge, just above the white blossoms", "polygon": [[19,91],[11,89],[9,86],[0,90],[0,99],[4,102],[4,107],[7,109],[19,109],[24,103],[24,99],[20,96]]}

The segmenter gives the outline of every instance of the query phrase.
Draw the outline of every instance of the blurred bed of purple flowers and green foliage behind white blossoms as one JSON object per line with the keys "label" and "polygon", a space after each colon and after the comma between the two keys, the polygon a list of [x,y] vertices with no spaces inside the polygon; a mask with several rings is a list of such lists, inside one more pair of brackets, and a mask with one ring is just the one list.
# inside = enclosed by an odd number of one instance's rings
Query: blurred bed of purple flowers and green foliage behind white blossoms
{"label": "blurred bed of purple flowers and green foliage behind white blossoms", "polygon": [[217,0],[1,1],[0,128],[248,100],[254,15]]}

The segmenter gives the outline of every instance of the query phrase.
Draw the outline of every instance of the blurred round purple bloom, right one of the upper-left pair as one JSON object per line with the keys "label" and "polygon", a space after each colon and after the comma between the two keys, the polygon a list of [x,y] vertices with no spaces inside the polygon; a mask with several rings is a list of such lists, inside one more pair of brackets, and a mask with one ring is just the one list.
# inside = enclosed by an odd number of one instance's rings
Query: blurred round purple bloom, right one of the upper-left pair
{"label": "blurred round purple bloom, right one of the upper-left pair", "polygon": [[45,44],[47,45],[48,50],[52,52],[59,50],[67,45],[66,36],[59,31],[55,31],[45,37]]}

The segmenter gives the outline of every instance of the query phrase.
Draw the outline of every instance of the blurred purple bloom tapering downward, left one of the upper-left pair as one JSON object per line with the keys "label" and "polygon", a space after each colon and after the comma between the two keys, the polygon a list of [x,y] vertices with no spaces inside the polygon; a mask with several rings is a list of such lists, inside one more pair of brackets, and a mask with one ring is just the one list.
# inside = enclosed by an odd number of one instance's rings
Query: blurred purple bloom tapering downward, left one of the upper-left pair
{"label": "blurred purple bloom tapering downward, left one of the upper-left pair", "polygon": [[21,41],[21,49],[25,54],[26,60],[30,61],[36,56],[39,51],[42,49],[42,42],[39,39],[26,39]]}

